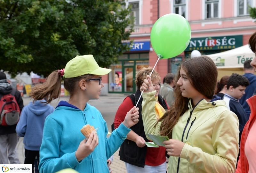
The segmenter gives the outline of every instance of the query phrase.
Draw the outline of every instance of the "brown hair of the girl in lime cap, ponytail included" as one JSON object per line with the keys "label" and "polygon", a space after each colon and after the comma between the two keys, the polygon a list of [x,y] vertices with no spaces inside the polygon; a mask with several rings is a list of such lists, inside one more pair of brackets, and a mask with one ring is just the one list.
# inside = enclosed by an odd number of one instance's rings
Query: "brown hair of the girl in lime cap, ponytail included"
{"label": "brown hair of the girl in lime cap, ponytail included", "polygon": [[[82,79],[88,81],[93,76],[92,74],[85,74],[75,78],[65,78],[64,88],[69,92],[69,96],[72,97],[79,88],[78,82]],[[46,98],[46,104],[49,104],[53,99],[57,99],[60,96],[60,90],[61,77],[58,70],[55,70],[46,78],[43,84],[32,87],[29,95],[32,97],[33,102]]]}

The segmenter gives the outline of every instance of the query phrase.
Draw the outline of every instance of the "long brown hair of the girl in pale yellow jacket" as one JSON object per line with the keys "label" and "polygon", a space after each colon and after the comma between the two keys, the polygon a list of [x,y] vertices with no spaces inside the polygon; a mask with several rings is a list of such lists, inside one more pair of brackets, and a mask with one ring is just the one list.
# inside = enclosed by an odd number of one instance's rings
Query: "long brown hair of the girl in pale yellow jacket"
{"label": "long brown hair of the girl in pale yellow jacket", "polygon": [[174,103],[157,121],[157,123],[162,122],[160,134],[168,136],[170,139],[172,138],[173,127],[177,124],[180,116],[188,110],[188,98],[181,95],[180,87],[177,85],[181,67],[186,72],[191,85],[209,99],[213,98],[218,76],[216,65],[208,56],[188,58],[180,64],[175,75]]}

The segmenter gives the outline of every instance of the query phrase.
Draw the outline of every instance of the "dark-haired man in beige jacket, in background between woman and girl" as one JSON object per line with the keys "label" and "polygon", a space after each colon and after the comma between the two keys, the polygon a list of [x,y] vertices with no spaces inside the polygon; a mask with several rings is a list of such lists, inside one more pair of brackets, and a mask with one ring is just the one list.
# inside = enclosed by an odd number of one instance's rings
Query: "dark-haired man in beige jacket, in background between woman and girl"
{"label": "dark-haired man in beige jacket, in background between woman and girl", "polygon": [[174,74],[168,73],[164,77],[164,86],[160,88],[159,94],[164,97],[168,106],[171,108],[172,103],[174,102],[174,93],[173,93],[173,86],[174,86]]}

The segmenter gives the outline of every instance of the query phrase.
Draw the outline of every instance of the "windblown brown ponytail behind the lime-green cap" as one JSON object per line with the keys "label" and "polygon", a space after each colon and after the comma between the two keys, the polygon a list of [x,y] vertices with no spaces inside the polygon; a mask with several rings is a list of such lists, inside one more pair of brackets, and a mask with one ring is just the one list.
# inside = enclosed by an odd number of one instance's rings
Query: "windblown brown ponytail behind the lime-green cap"
{"label": "windblown brown ponytail behind the lime-green cap", "polygon": [[33,99],[33,103],[36,100],[43,100],[46,98],[46,104],[52,102],[60,96],[61,90],[61,77],[58,70],[53,71],[43,84],[36,85],[31,88],[29,95]]}

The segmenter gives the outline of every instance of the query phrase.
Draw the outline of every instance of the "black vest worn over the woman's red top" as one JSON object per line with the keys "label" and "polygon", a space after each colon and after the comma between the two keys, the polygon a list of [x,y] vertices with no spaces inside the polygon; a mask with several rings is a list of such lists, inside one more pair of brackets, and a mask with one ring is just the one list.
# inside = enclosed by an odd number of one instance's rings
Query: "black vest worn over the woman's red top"
{"label": "black vest worn over the woman's red top", "polygon": [[[141,94],[140,90],[138,90],[136,93],[128,96],[131,98],[134,106],[138,102],[140,94]],[[144,126],[143,126],[142,115],[141,115],[142,100],[143,98],[140,97],[140,101],[137,105],[137,107],[139,108],[139,116],[140,116],[139,122],[133,125],[131,127],[131,130],[137,133],[139,136],[141,136],[146,142],[148,142],[148,139],[146,138],[146,134],[144,132]],[[164,98],[161,95],[158,95],[158,101],[163,106],[164,109],[167,109],[166,102],[164,101]],[[141,168],[144,168],[145,166],[146,153],[147,153],[147,146],[142,148],[138,147],[136,142],[133,142],[132,140],[128,140],[128,139],[124,140],[119,150],[120,160]]]}

